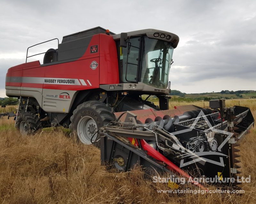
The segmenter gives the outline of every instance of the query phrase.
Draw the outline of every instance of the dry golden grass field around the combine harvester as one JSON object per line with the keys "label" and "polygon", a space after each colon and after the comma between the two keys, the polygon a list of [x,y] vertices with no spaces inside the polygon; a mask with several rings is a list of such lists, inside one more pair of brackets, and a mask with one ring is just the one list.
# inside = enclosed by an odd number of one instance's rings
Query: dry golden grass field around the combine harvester
{"label": "dry golden grass field around the combine harvester", "polygon": [[[186,102],[170,102],[173,106]],[[193,103],[209,106],[207,102]],[[256,118],[256,99],[226,100],[228,106],[250,107]],[[8,110],[0,109],[0,112]],[[146,179],[140,167],[117,173],[100,165],[100,150],[76,143],[61,128],[21,136],[12,118],[0,119],[0,203],[256,203],[256,129],[241,142],[241,171],[251,175],[245,193],[158,194],[166,184]],[[211,188],[211,186],[209,186]],[[191,186],[192,189],[196,187]]]}

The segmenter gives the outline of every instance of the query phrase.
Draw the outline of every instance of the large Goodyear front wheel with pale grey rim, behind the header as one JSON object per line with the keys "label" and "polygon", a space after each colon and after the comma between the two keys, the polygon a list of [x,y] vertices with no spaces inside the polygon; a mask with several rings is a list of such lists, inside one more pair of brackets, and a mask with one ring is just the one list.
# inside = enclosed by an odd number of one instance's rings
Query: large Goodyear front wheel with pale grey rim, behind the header
{"label": "large Goodyear front wheel with pale grey rim, behind the header", "polygon": [[[69,129],[76,139],[84,144],[92,144],[97,137],[97,134],[94,135],[94,133],[113,121],[113,114],[111,109],[102,102],[86,101],[76,107],[70,121]],[[100,147],[100,141],[93,144]]]}

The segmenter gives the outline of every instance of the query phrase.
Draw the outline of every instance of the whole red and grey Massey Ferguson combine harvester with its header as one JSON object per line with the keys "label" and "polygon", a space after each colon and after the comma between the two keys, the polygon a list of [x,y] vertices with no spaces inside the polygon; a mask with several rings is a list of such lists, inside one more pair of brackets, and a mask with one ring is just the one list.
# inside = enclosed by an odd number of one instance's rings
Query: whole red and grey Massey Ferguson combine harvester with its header
{"label": "whole red and grey Massey Ferguson combine harvester with its header", "polygon": [[[254,123],[249,108],[213,100],[211,109],[169,110],[177,35],[154,29],[114,34],[96,27],[64,36],[60,44],[53,40],[58,49],[40,53],[43,64],[27,62],[39,55],[28,56],[27,50],[26,63],[6,74],[6,95],[19,97],[15,125],[22,135],[70,128],[82,143],[100,146],[102,163],[120,171],[140,164],[187,178],[240,173],[235,147]],[[232,184],[238,182],[224,185]]]}

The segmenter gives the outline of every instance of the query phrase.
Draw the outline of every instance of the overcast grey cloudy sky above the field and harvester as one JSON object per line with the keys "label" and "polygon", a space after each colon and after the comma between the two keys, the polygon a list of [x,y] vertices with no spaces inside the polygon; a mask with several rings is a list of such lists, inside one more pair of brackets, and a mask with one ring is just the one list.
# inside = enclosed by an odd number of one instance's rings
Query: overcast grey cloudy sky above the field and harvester
{"label": "overcast grey cloudy sky above the field and harvester", "polygon": [[[177,34],[171,89],[256,90],[255,0],[0,0],[0,7],[0,97],[7,69],[25,62],[29,46],[96,26],[114,33],[153,28]],[[30,54],[48,48],[57,48],[56,42]]]}

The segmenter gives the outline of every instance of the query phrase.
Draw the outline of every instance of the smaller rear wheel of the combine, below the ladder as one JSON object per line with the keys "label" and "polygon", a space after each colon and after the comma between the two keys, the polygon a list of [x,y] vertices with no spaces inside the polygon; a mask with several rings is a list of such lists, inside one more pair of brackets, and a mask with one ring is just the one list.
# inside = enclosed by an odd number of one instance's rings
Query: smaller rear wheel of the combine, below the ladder
{"label": "smaller rear wheel of the combine, below the ladder", "polygon": [[35,113],[20,113],[16,119],[16,128],[20,130],[20,134],[23,136],[35,134],[40,127],[40,119]]}

